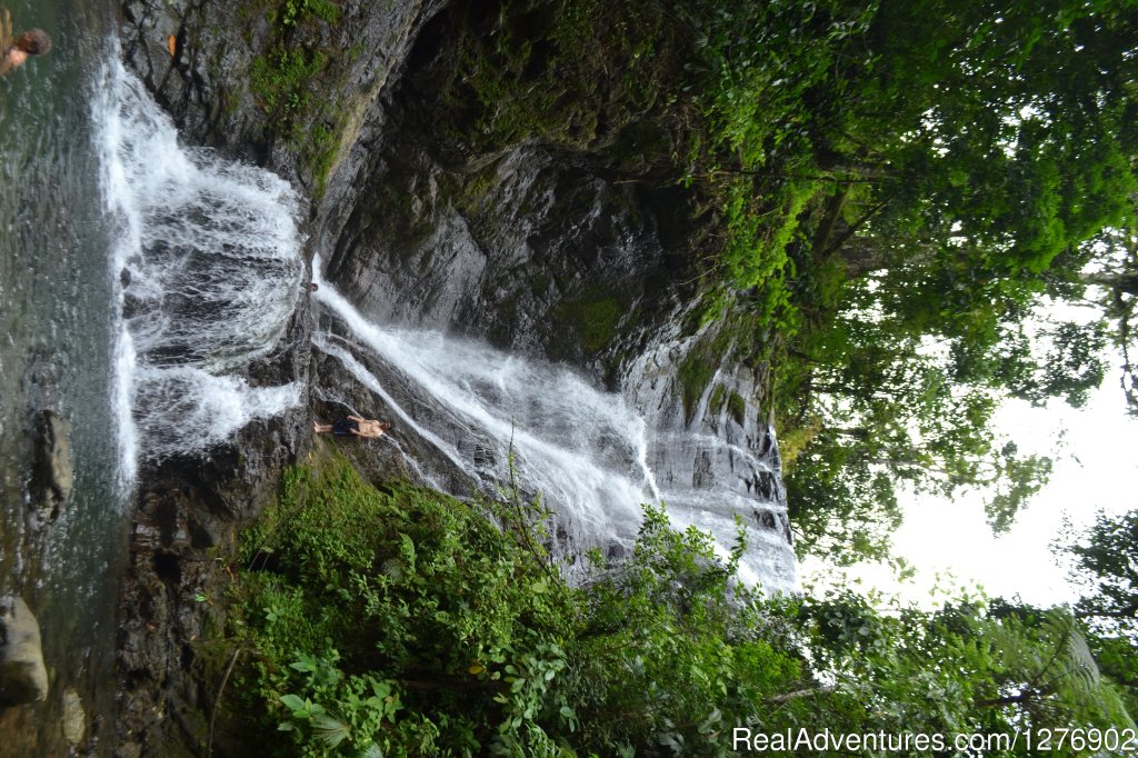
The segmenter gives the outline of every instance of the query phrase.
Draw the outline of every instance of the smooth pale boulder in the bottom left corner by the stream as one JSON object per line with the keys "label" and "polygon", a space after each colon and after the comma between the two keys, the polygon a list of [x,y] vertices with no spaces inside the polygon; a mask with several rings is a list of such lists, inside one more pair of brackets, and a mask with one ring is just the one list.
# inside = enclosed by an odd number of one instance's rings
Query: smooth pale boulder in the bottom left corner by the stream
{"label": "smooth pale boulder in the bottom left corner by the stream", "polygon": [[40,625],[23,598],[0,599],[0,705],[47,700]]}

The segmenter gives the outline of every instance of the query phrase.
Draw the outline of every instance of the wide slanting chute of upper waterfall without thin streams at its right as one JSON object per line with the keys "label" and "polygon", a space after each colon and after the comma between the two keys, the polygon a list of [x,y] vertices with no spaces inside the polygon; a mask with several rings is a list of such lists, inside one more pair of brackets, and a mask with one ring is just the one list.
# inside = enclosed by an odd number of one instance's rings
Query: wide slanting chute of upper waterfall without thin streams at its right
{"label": "wide slanting chute of upper waterfall without thin streams at its right", "polygon": [[[319,261],[313,267],[319,269]],[[519,479],[570,517],[562,526],[575,538],[595,544],[616,536],[627,542],[635,533],[640,503],[654,499],[654,483],[643,465],[644,422],[618,397],[597,392],[563,368],[485,345],[439,332],[380,329],[327,282],[316,297],[374,356],[429,396],[436,412],[423,419],[413,418],[390,396],[385,399],[399,421],[467,475],[484,485],[505,480],[512,445]],[[315,339],[318,348],[338,357],[369,389],[386,394],[330,336]],[[471,460],[457,450],[456,439],[486,454]]]}

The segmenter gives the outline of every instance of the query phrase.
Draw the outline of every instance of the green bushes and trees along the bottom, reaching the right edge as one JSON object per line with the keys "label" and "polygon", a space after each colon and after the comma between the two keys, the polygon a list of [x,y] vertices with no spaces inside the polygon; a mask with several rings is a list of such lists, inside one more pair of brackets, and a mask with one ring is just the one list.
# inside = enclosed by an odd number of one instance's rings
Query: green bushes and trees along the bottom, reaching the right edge
{"label": "green bushes and trees along the bottom, reaching the right edge", "polygon": [[1062,609],[764,599],[735,580],[743,543],[724,563],[654,508],[629,557],[593,554],[570,584],[546,517],[509,493],[374,488],[338,458],[290,471],[244,538],[230,717],[277,756],[731,755],[736,727],[1131,723],[1091,654],[1106,648]]}

